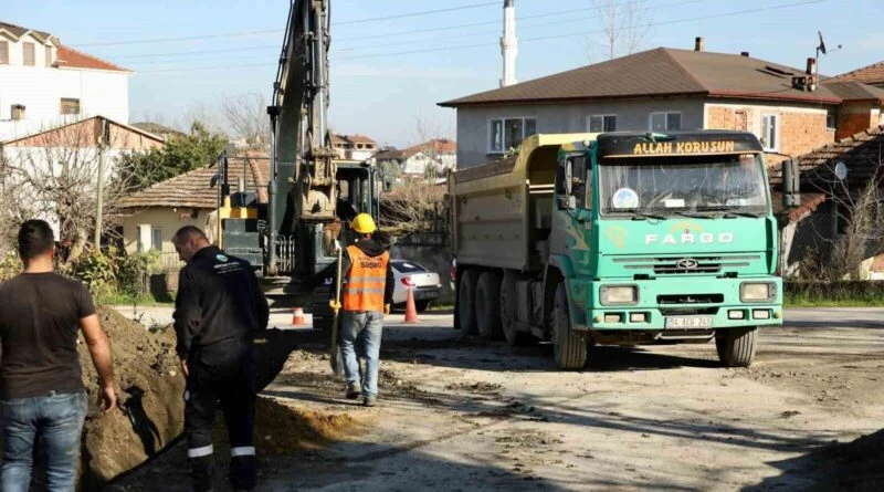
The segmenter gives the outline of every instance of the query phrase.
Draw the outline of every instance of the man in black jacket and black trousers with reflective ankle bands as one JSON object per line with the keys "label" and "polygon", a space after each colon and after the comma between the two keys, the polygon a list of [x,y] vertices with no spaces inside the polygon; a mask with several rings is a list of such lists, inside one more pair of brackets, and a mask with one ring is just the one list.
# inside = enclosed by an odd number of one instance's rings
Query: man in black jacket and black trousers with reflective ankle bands
{"label": "man in black jacket and black trousers with reflective ankle bands", "polygon": [[193,490],[212,490],[212,425],[219,404],[230,435],[234,490],[255,486],[255,362],[253,341],[267,327],[270,308],[249,262],[224,254],[187,226],[175,249],[187,265],[175,300],[177,352],[187,376],[185,431]]}

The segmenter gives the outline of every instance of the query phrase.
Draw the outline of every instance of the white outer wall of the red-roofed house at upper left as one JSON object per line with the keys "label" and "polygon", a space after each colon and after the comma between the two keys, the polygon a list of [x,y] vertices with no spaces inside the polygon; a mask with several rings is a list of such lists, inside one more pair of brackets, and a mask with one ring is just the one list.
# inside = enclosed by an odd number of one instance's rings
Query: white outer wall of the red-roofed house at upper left
{"label": "white outer wall of the red-roofed house at upper left", "polygon": [[[30,40],[35,66],[23,66],[21,43],[3,39],[10,42],[10,64],[0,65],[0,142],[88,116],[129,122],[130,73],[46,67],[44,48],[35,39]],[[80,115],[63,117],[62,97],[80,100]],[[11,121],[13,104],[25,106],[24,121]]]}

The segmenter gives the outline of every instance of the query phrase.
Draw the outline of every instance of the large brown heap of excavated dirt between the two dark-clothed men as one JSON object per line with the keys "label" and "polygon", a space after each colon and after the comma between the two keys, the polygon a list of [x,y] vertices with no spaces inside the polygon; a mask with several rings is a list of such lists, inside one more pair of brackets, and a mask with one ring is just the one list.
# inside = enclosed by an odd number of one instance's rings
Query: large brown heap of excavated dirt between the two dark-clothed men
{"label": "large brown heap of excavated dirt between the two dark-clothed men", "polygon": [[[97,375],[81,337],[80,363],[90,401],[81,453],[81,492],[97,492],[143,465],[167,449],[183,429],[185,378],[175,353],[175,332],[171,327],[150,332],[110,307],[99,307],[98,315],[110,338],[119,408],[101,415]],[[294,335],[276,329],[257,341],[260,388],[275,378],[294,348]],[[259,411],[262,408],[280,411],[267,405],[261,405]],[[2,447],[0,437],[0,452]],[[38,443],[32,492],[45,490],[40,451]]]}

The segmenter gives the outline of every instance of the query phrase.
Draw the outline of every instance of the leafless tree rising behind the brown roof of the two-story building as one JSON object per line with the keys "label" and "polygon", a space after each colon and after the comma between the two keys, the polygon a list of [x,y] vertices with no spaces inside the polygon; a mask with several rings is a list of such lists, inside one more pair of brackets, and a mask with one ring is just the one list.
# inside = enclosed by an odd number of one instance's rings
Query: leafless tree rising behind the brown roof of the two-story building
{"label": "leafless tree rising behind the brown roof of the two-story building", "polygon": [[603,42],[587,40],[587,57],[590,62],[594,57],[592,50],[597,46],[604,49],[608,60],[635,53],[642,48],[654,17],[646,0],[593,0],[592,3],[604,33]]}

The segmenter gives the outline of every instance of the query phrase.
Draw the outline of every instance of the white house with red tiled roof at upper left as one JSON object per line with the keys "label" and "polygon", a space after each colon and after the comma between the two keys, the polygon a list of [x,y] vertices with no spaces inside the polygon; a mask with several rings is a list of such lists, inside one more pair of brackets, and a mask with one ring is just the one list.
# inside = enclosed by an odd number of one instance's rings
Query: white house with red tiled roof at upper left
{"label": "white house with red tiled roof at upper left", "polygon": [[127,124],[133,72],[0,22],[0,142],[92,116]]}

